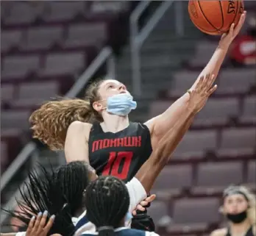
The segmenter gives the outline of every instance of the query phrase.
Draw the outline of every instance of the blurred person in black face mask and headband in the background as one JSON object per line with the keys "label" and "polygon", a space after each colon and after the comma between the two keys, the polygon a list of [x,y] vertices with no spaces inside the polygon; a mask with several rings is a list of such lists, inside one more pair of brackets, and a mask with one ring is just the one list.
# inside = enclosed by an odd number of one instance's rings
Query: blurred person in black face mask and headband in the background
{"label": "blurred person in black face mask and headband in the background", "polygon": [[256,236],[256,198],[243,186],[224,190],[221,212],[229,226],[214,230],[210,236]]}

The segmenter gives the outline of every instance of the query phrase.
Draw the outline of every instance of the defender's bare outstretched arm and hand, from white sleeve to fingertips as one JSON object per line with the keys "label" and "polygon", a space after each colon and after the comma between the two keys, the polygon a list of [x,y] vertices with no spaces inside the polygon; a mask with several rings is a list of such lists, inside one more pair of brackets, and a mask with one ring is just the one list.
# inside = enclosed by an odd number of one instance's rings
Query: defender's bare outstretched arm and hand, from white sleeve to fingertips
{"label": "defender's bare outstretched arm and hand, from white sleeve to fingertips", "polygon": [[[210,79],[209,79],[210,78]],[[147,193],[152,188],[155,179],[170,160],[171,154],[182,139],[183,126],[191,119],[195,112],[205,104],[208,97],[216,90],[213,85],[214,75],[201,76],[193,90],[188,91],[188,107],[180,115],[174,126],[166,132],[159,145],[153,150],[149,159],[143,164],[135,177],[141,182]]]}

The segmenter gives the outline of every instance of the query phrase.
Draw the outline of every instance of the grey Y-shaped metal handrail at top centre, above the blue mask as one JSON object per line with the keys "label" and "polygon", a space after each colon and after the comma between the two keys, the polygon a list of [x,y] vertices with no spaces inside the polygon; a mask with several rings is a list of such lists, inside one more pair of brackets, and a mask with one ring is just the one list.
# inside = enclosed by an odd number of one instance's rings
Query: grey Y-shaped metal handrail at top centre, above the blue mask
{"label": "grey Y-shaped metal handrail at top centre, above the blue mask", "polygon": [[[132,66],[132,92],[135,96],[141,96],[141,57],[140,57],[140,49],[143,42],[146,40],[146,37],[154,29],[154,26],[160,21],[160,18],[163,17],[168,7],[174,0],[171,1],[163,1],[160,4],[160,7],[152,15],[152,18],[147,22],[147,24],[143,27],[141,32],[138,32],[138,19],[141,16],[143,8],[140,4],[134,10],[134,14],[129,18],[129,27],[130,27],[130,50],[131,50],[131,66]],[[145,4],[146,5],[146,4]],[[143,10],[141,10],[143,8]],[[133,12],[132,12],[133,13]]]}

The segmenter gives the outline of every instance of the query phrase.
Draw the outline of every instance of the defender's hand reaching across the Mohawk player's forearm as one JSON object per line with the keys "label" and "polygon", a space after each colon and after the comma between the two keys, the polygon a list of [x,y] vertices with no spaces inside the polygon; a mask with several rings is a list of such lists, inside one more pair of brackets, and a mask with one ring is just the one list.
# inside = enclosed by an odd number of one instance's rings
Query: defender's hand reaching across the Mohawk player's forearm
{"label": "defender's hand reaching across the Mohawk player's forearm", "polygon": [[188,101],[188,108],[197,113],[205,106],[209,96],[214,93],[217,89],[217,85],[213,86],[215,81],[215,75],[207,74],[206,76],[201,76],[199,82],[193,90],[188,90],[190,94],[190,99]]}

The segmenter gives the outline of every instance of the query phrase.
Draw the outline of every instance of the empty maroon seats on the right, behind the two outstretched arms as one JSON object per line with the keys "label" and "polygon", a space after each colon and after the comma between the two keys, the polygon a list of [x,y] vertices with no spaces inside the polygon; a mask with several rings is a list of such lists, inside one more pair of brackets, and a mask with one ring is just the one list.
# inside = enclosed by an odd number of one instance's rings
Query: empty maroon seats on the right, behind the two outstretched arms
{"label": "empty maroon seats on the right, behind the two outstretched arms", "polygon": [[[150,118],[164,112],[193,85],[215,47],[214,41],[198,43],[188,68],[173,74],[168,98],[150,104]],[[243,184],[256,191],[256,71],[230,68],[228,58],[224,65],[216,79],[216,93],[196,115],[192,129],[154,184],[152,193],[162,204],[157,202],[159,211],[152,204],[149,213],[164,228],[163,235],[207,235],[216,229],[212,226],[224,225],[218,213],[224,188]]]}

